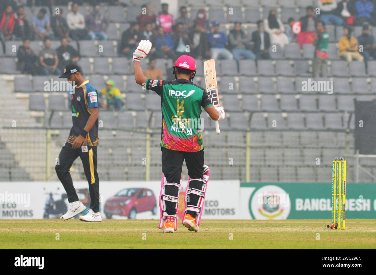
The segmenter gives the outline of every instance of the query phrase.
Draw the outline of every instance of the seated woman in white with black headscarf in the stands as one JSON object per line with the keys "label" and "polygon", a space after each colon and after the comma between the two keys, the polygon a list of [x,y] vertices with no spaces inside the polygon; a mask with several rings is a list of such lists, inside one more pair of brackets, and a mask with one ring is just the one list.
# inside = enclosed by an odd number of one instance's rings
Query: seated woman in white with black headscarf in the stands
{"label": "seated woman in white with black headscarf in the stands", "polygon": [[286,44],[288,44],[288,37],[285,34],[285,27],[276,16],[276,10],[271,9],[268,18],[264,20],[265,31],[270,35],[271,44],[279,44],[283,50]]}

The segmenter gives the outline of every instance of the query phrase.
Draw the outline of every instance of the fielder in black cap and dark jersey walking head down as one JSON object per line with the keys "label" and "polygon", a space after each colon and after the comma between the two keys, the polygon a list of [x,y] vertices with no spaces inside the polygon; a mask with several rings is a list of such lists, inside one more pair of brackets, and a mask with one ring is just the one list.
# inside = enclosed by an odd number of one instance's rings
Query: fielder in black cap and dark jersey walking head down
{"label": "fielder in black cap and dark jersey walking head down", "polygon": [[85,211],[86,206],[79,201],[69,169],[77,157],[80,157],[89,183],[90,209],[81,221],[100,222],[99,212],[99,177],[97,173],[98,137],[98,93],[89,80],[85,80],[81,69],[76,64],[69,64],[64,68],[60,78],[67,78],[75,82],[71,92],[72,122],[67,142],[59,154],[59,162],[55,166],[58,178],[68,195],[69,208],[60,219],[67,220]]}

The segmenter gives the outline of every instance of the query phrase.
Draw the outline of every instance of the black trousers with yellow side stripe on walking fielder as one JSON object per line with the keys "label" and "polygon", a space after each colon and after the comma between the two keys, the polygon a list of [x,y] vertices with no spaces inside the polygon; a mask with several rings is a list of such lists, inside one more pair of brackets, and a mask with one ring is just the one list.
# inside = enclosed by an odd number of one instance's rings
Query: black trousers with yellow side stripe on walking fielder
{"label": "black trousers with yellow side stripe on walking fielder", "polygon": [[86,152],[82,152],[82,147],[74,149],[68,142],[65,143],[59,154],[58,164],[55,166],[56,174],[67,192],[68,201],[78,201],[76,189],[74,189],[72,177],[69,169],[77,157],[80,157],[89,183],[90,208],[94,212],[99,212],[99,177],[97,173],[97,147],[88,146]]}

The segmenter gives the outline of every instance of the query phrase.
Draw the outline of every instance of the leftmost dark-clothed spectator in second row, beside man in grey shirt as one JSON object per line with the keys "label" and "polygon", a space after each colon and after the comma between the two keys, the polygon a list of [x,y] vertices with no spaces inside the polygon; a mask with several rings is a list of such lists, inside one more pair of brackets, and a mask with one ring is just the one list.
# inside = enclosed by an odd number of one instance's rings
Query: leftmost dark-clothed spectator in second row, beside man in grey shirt
{"label": "leftmost dark-clothed spectator in second row, beside man in grey shirt", "polygon": [[22,74],[37,74],[38,53],[30,48],[30,40],[24,39],[17,51],[17,70]]}

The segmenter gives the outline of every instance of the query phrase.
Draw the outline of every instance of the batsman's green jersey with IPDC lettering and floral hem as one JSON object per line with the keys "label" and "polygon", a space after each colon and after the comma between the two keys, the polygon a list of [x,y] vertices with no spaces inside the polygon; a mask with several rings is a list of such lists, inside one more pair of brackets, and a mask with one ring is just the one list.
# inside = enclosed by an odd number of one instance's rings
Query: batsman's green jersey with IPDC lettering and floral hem
{"label": "batsman's green jersey with IPDC lettering and floral hem", "polygon": [[202,150],[201,106],[205,109],[212,105],[205,89],[186,79],[147,79],[146,89],[161,97],[161,147],[185,152]]}

